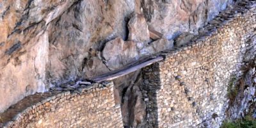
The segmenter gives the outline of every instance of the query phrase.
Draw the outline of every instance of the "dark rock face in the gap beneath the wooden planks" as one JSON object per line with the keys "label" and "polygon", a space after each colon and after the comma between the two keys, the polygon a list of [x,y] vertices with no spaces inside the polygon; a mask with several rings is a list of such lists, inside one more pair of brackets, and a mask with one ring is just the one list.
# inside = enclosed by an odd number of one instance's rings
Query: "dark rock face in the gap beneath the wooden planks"
{"label": "dark rock face in the gap beneath the wooden planks", "polygon": [[[143,100],[141,71],[132,72],[114,80],[115,103],[121,104],[123,124],[125,127],[147,127],[146,104]],[[119,98],[120,97],[120,98]]]}

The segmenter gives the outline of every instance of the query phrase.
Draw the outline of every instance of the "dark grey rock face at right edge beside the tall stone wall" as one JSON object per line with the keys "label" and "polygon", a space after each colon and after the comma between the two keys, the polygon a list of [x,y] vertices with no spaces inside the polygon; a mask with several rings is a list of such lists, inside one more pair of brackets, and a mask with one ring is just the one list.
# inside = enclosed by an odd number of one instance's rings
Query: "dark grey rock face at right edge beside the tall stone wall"
{"label": "dark grey rock face at right edge beside the tall stone wall", "polygon": [[[243,74],[239,79],[234,79],[232,90],[237,90],[237,95],[230,97],[230,107],[227,116],[231,120],[243,118],[246,115],[256,117],[256,36],[249,38],[246,54],[243,57],[245,63]],[[234,93],[234,92],[233,92]],[[231,95],[231,94],[230,94]]]}

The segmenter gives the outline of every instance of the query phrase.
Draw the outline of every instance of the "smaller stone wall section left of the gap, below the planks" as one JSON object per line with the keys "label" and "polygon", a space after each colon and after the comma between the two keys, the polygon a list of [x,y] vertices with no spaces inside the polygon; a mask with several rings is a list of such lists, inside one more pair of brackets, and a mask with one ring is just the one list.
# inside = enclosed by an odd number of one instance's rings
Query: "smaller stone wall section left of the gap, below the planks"
{"label": "smaller stone wall section left of the gap, below the planks", "polygon": [[[61,92],[17,114],[5,127],[123,127],[113,83]],[[91,89],[92,88],[92,89]],[[11,108],[12,109],[12,108]],[[6,115],[8,116],[7,110]],[[1,116],[4,118],[3,114]]]}

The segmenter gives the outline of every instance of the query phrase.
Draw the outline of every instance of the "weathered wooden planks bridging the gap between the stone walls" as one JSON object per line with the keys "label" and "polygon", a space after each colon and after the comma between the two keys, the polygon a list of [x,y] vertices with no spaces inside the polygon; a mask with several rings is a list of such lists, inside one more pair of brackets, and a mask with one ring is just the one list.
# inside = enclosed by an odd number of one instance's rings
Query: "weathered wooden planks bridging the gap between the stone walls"
{"label": "weathered wooden planks bridging the gap between the stone walls", "polygon": [[104,74],[104,75],[99,76],[99,77],[94,77],[90,80],[94,81],[96,83],[100,83],[100,82],[103,82],[103,81],[110,81],[110,80],[116,79],[118,77],[125,76],[125,75],[127,75],[131,72],[134,72],[136,70],[139,70],[143,67],[147,67],[148,65],[152,65],[152,63],[156,63],[157,61],[161,61],[163,59],[164,59],[163,56],[158,56],[156,58],[151,58],[150,60],[144,61],[144,62],[139,63],[137,65],[132,65],[130,67],[122,68],[120,70],[117,70],[117,71],[109,73],[109,74]]}

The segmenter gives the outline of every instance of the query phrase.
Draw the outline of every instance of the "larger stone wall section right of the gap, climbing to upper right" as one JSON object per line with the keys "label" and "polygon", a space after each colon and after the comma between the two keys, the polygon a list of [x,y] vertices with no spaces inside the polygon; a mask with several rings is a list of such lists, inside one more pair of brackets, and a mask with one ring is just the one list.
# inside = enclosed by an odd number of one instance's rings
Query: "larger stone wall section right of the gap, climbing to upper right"
{"label": "larger stone wall section right of the gap, climbing to upper right", "polygon": [[256,35],[255,4],[243,6],[221,13],[205,35],[144,68],[150,127],[220,127],[228,84],[241,76],[246,49],[253,47],[248,40]]}

